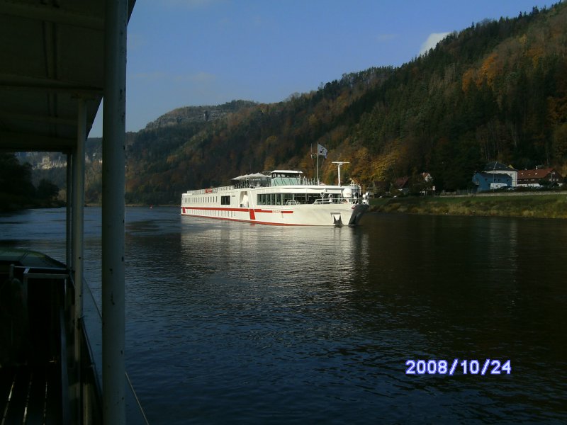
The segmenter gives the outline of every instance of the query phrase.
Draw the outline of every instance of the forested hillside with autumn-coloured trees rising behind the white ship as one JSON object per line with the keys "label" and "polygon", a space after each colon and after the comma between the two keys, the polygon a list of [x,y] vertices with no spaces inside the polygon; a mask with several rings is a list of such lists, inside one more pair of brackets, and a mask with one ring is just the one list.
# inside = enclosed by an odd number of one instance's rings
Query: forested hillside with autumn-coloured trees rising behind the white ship
{"label": "forested hillside with autumn-coloured trees rising behind the white ship", "polygon": [[212,120],[208,108],[172,111],[128,135],[127,202],[179,203],[189,188],[275,168],[313,176],[318,143],[327,182],[337,160],[366,187],[427,171],[453,191],[494,160],[565,176],[566,53],[567,5],[556,4],[473,23],[401,67],[344,74],[280,103],[235,101]]}

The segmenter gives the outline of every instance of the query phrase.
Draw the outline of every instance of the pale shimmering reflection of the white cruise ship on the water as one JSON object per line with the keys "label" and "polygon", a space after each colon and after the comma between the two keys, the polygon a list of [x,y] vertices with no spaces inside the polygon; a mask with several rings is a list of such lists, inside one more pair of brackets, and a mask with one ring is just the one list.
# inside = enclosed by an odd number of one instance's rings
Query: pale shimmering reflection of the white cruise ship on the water
{"label": "pale shimmering reflection of the white cruise ship on the water", "polygon": [[368,235],[352,227],[274,227],[181,217],[189,273],[284,288],[335,285],[349,291],[369,264]]}

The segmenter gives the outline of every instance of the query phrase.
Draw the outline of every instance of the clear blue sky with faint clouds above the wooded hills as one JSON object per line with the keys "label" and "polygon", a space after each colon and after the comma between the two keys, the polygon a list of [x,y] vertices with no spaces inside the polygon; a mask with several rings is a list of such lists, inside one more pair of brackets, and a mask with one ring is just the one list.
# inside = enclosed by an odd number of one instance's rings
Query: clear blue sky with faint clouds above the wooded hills
{"label": "clear blue sky with faint clouds above the wooded hills", "polygon": [[[126,130],[182,106],[274,103],[343,74],[398,67],[444,35],[558,0],[137,0]],[[89,134],[102,135],[102,108]]]}

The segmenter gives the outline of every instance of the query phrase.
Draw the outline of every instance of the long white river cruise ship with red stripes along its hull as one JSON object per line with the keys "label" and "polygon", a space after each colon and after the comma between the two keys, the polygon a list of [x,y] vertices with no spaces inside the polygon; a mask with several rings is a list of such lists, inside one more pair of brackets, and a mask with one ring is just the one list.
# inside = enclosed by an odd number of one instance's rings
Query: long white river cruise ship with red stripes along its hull
{"label": "long white river cruise ship with red stripes along its hull", "polygon": [[188,191],[181,215],[262,225],[357,225],[368,209],[359,185],[317,184],[301,171],[274,170],[269,175],[238,176],[232,186]]}

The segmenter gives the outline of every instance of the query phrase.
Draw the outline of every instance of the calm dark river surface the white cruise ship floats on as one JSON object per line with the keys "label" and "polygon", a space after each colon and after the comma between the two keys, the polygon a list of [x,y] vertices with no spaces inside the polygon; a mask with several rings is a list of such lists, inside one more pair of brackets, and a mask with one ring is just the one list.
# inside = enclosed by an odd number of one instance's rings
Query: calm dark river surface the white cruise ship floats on
{"label": "calm dark river surface the white cruise ship floats on", "polygon": [[[86,208],[96,299],[100,217]],[[64,220],[0,215],[1,246],[64,261]],[[127,368],[151,424],[567,421],[567,221],[126,223]]]}

